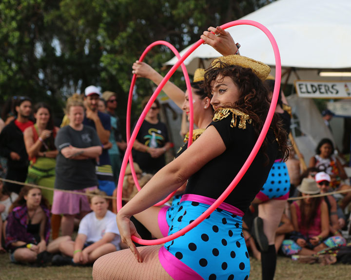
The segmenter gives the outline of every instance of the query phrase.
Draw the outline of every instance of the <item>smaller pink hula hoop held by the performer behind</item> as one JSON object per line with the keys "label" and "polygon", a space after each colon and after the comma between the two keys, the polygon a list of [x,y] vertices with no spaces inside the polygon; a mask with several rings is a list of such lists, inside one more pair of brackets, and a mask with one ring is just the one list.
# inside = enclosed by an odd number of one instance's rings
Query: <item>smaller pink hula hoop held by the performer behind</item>
{"label": "smaller pink hula hoop held by the performer behind", "polygon": [[[171,51],[176,55],[176,57],[178,57],[178,59],[180,58],[180,54],[178,53],[178,51],[176,50],[176,48],[166,42],[166,41],[156,41],[152,44],[150,44],[146,49],[145,51],[141,54],[140,58],[139,58],[139,61],[143,61],[146,54],[150,52],[150,50],[157,46],[157,45],[164,45],[168,48],[171,49]],[[193,128],[194,128],[194,110],[193,110],[193,95],[192,95],[192,90],[191,90],[191,84],[190,84],[190,79],[189,79],[189,75],[188,75],[188,71],[184,65],[184,63],[182,63],[180,65],[182,71],[183,71],[183,74],[184,74],[184,78],[185,78],[185,83],[186,83],[186,86],[187,86],[187,89],[188,89],[188,92],[189,92],[189,109],[190,109],[190,125],[189,125],[189,138],[191,137],[191,140],[188,141],[188,147],[192,144],[192,139],[193,139]],[[134,91],[134,87],[135,87],[135,83],[136,83],[136,80],[137,80],[137,75],[134,74],[133,75],[133,78],[132,78],[132,83],[131,83],[131,86],[130,86],[130,89],[129,89],[129,96],[128,96],[128,104],[127,104],[127,122],[126,122],[126,136],[127,136],[127,144],[129,144],[129,140],[130,140],[130,119],[131,119],[131,110],[132,110],[132,100],[133,100],[133,91]],[[166,81],[167,82],[167,81]],[[162,87],[163,88],[163,87]],[[153,94],[152,98],[154,97],[155,93]],[[156,97],[157,97],[158,93],[156,94]],[[155,99],[156,99],[155,97]],[[153,99],[155,101],[155,99]],[[150,103],[150,102],[149,102]],[[147,114],[147,112],[150,110],[150,107],[148,108],[148,105],[149,103],[146,105],[145,107],[145,116]],[[151,103],[152,105],[152,103]],[[150,106],[151,106],[150,105]],[[144,110],[144,111],[145,111]],[[140,118],[142,118],[142,121],[144,121],[145,119],[145,116],[143,116],[144,114],[144,111],[143,113],[141,114]],[[142,122],[141,122],[142,123]],[[141,124],[140,124],[141,125]],[[140,129],[140,125],[138,126],[138,124],[136,125],[136,128],[137,131],[139,131]],[[134,140],[133,140],[133,143],[134,143]],[[125,154],[127,155],[127,153]],[[123,159],[124,160],[124,159]],[[139,185],[139,182],[137,180],[137,174],[135,172],[135,168],[134,168],[134,164],[133,164],[133,157],[132,157],[132,153],[129,154],[129,162],[130,162],[130,167],[131,167],[131,172],[132,172],[132,176],[133,176],[133,179],[134,179],[134,183],[136,184],[136,187],[138,189],[138,191],[140,191],[140,185]],[[118,178],[118,182],[121,180],[121,174],[125,174],[125,169],[123,172],[120,172],[119,174],[119,178]],[[122,177],[122,182],[123,182],[123,177]],[[122,188],[122,187],[121,187]],[[117,189],[117,209],[119,210],[118,208],[118,191],[119,191],[119,183],[118,183],[118,189]],[[155,204],[155,206],[159,206],[159,205],[163,205],[165,204],[168,200],[170,200],[170,198],[174,195],[176,191],[170,193],[165,199],[163,199],[162,201],[158,202]],[[122,192],[121,192],[122,193]],[[121,203],[120,203],[121,204]]]}

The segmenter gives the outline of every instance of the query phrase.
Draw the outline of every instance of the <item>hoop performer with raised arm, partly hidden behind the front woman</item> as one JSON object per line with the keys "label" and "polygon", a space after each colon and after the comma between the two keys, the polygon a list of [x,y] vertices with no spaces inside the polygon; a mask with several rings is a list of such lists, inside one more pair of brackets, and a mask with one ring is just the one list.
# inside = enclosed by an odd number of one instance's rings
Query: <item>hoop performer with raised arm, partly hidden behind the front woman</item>
{"label": "hoop performer with raised arm, partly hidden behind the front woman", "polygon": [[[221,30],[221,29],[220,29]],[[229,33],[222,30],[223,34],[225,34],[226,38],[221,38],[220,44],[218,44],[218,39],[215,37],[217,42],[216,48],[218,51],[222,51],[224,49],[229,50],[231,53],[238,54],[238,49],[235,45],[233,38]],[[156,72],[151,66],[144,62],[136,61],[133,64],[133,74],[136,74],[137,77],[147,78],[153,81],[157,86],[162,81],[163,77]],[[191,90],[193,93],[193,107],[194,107],[194,123],[198,127],[193,132],[193,141],[194,142],[206,129],[206,127],[212,122],[213,118],[213,107],[210,105],[211,99],[207,96],[207,93],[204,90],[203,80],[204,80],[204,69],[196,69],[194,74],[194,80],[191,83]],[[189,93],[188,90],[184,92],[174,85],[171,82],[167,82],[163,88],[163,91],[167,94],[167,96],[172,99],[178,107],[182,108],[184,112],[186,112],[188,118],[190,117],[190,106],[189,106]],[[184,142],[185,144],[177,151],[176,157],[178,157],[181,153],[183,153],[188,147],[188,138],[189,133],[185,136]],[[140,223],[143,224],[156,238],[165,237],[168,235],[169,226],[171,224],[171,220],[176,212],[176,209],[180,203],[180,199],[182,193],[184,192],[186,184],[180,187],[176,194],[173,196],[172,205],[171,206],[152,206],[140,213],[134,215]]]}

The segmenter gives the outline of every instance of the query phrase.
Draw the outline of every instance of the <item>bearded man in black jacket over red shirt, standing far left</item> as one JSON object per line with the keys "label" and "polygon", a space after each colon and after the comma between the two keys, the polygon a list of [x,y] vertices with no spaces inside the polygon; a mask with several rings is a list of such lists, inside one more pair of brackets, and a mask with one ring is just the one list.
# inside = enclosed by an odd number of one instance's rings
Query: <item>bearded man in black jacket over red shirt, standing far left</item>
{"label": "bearded man in black jacket over red shirt, standing far left", "polygon": [[[23,140],[23,131],[33,125],[29,121],[32,101],[29,97],[15,96],[17,118],[6,125],[0,134],[0,155],[7,158],[6,179],[24,182],[28,172],[28,155]],[[20,192],[21,185],[5,183],[8,192]]]}

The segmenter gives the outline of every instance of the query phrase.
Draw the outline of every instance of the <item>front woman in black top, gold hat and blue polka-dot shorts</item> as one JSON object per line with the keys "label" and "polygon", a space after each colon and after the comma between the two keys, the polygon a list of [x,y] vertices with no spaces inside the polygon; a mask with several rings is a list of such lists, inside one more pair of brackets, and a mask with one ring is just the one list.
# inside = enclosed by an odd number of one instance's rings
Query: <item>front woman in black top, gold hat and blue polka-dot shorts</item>
{"label": "front woman in black top, gold hat and blue polka-dot shorts", "polygon": [[[204,35],[215,39],[209,32]],[[234,275],[235,279],[248,279],[250,261],[242,235],[242,215],[266,181],[278,149],[284,156],[288,154],[286,134],[275,116],[246,174],[225,202],[197,227],[162,247],[137,250],[130,235],[138,234],[129,218],[187,179],[169,235],[192,223],[212,205],[243,166],[263,127],[270,105],[262,80],[269,71],[267,65],[239,55],[220,57],[212,63],[204,84],[212,94],[213,122],[117,215],[122,240],[143,263],[134,263],[128,250],[108,254],[95,263],[95,280],[111,279],[111,275],[114,279],[234,279]]]}

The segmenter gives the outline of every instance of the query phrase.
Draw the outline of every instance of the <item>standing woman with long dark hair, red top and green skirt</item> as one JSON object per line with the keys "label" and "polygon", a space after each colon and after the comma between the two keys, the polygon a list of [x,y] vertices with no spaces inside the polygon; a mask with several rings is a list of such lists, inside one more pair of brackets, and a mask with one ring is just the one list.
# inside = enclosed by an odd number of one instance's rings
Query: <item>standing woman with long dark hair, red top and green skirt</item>
{"label": "standing woman with long dark hair, red top and green skirt", "polygon": [[[52,110],[46,103],[40,102],[34,106],[34,118],[36,123],[23,133],[30,159],[26,182],[54,189],[58,155],[54,141],[59,128],[54,126]],[[42,195],[51,205],[53,191],[42,190]]]}

